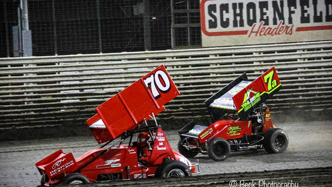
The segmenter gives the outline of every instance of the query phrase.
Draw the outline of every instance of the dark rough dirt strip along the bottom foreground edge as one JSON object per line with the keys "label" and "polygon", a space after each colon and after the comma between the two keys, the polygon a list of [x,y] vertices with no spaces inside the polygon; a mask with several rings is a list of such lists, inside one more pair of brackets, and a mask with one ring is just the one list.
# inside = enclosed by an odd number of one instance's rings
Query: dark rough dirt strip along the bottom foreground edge
{"label": "dark rough dirt strip along the bottom foreground edge", "polygon": [[177,178],[177,179],[152,179],[152,180],[131,180],[131,181],[114,181],[99,182],[84,185],[84,187],[102,187],[102,186],[157,186],[163,187],[244,187],[246,184],[250,187],[270,187],[270,186],[301,186],[328,187],[332,183],[332,167],[311,168],[311,169],[288,169],[261,172],[243,172],[227,174],[200,175],[195,177]]}

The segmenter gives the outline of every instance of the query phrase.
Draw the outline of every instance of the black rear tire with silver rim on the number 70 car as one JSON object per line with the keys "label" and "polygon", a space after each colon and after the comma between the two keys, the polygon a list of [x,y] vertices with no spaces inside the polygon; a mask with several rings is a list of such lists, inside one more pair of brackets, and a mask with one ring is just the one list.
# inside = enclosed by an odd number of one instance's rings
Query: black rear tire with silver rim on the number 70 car
{"label": "black rear tire with silver rim on the number 70 car", "polygon": [[158,178],[178,178],[192,176],[189,166],[179,160],[164,160],[158,166],[155,177]]}

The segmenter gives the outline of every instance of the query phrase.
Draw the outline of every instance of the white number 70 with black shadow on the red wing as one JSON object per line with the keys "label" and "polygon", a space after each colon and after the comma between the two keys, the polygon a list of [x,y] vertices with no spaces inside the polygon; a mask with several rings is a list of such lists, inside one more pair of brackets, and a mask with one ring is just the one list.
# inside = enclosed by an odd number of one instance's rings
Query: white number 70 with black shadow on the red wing
{"label": "white number 70 with black shadow on the red wing", "polygon": [[[161,83],[160,79],[162,79],[165,86]],[[148,88],[151,87],[151,92],[154,99],[158,99],[160,97],[160,93],[158,92],[158,90],[162,93],[167,93],[171,89],[171,83],[168,79],[168,76],[162,70],[158,70],[151,76],[144,79],[144,84]]]}

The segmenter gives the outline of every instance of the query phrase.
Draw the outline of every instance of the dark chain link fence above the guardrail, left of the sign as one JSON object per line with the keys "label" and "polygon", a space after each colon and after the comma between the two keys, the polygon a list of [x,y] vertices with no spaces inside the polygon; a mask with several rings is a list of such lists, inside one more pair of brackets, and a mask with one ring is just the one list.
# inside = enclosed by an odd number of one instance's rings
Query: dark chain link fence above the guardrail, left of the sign
{"label": "dark chain link fence above the guardrail, left of the sign", "polygon": [[[149,50],[171,49],[172,3],[199,8],[199,0],[28,0],[33,55],[144,51],[147,42]],[[20,0],[0,4],[0,57],[12,57]],[[199,24],[199,12],[184,14],[175,15],[176,23]],[[187,26],[175,29],[174,46],[200,45],[200,28]]]}

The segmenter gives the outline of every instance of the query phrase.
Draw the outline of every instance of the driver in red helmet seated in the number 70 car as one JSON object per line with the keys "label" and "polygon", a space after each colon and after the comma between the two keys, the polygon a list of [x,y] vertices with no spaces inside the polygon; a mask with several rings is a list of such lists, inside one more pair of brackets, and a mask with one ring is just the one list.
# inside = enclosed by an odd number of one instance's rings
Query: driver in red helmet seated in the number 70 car
{"label": "driver in red helmet seated in the number 70 car", "polygon": [[143,163],[147,163],[151,156],[152,148],[150,146],[150,143],[148,142],[150,137],[150,134],[146,132],[139,134],[137,137],[137,154],[139,161]]}

